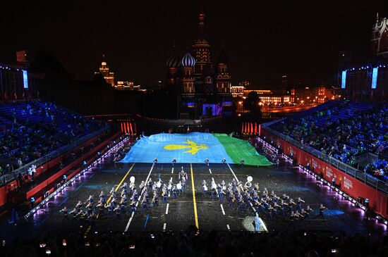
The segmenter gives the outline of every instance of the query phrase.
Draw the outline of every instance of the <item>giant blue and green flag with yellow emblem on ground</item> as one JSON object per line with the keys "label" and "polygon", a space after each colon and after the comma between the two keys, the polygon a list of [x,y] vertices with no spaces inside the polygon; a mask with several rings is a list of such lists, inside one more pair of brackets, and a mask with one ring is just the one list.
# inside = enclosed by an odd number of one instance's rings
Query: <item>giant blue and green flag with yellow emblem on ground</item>
{"label": "giant blue and green flag with yellow emblem on ground", "polygon": [[261,156],[246,140],[236,139],[227,134],[211,134],[192,132],[188,134],[152,134],[142,137],[122,163],[152,163],[157,158],[159,163],[221,163],[226,158],[228,163],[240,163],[243,158],[245,165],[272,165]]}

